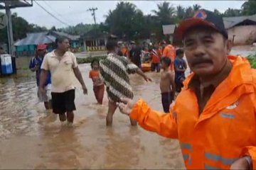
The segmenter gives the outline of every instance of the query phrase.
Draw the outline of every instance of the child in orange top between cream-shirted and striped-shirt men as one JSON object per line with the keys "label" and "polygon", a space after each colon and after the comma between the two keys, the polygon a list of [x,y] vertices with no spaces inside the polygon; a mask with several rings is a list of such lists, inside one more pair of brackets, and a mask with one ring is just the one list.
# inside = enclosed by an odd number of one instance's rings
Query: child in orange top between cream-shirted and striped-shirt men
{"label": "child in orange top between cream-shirted and striped-shirt men", "polygon": [[93,60],[91,63],[91,67],[92,67],[92,70],[90,71],[89,77],[90,79],[92,79],[92,82],[93,82],[93,91],[95,93],[95,98],[98,104],[102,104],[105,85],[104,85],[104,81],[100,79],[99,60]]}

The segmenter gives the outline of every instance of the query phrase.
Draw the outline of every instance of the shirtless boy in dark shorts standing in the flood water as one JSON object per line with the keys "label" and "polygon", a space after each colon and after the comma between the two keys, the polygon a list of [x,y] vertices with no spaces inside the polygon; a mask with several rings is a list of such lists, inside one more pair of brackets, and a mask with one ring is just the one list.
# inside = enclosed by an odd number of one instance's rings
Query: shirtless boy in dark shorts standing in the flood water
{"label": "shirtless boy in dark shorts standing in the flood water", "polygon": [[161,59],[161,67],[164,72],[161,72],[160,89],[161,89],[161,101],[165,113],[169,113],[169,107],[174,100],[175,83],[174,73],[169,69],[171,65],[171,59],[169,57],[163,57]]}

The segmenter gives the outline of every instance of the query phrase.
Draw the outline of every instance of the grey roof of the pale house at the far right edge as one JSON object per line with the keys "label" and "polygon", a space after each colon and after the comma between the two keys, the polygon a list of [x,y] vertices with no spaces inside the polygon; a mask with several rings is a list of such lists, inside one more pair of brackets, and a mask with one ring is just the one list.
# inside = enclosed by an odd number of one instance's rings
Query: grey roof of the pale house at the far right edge
{"label": "grey roof of the pale house at the far right edge", "polygon": [[223,17],[225,28],[232,28],[233,26],[242,23],[243,21],[250,20],[256,22],[256,14],[252,16],[234,16],[234,17]]}

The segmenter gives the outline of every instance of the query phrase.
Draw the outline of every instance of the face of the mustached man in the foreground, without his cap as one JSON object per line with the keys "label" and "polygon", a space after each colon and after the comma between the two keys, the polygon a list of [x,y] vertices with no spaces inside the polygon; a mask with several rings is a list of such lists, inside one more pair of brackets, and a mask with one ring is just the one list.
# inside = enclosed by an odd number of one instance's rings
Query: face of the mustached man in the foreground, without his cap
{"label": "face of the mustached man in the foreground, without his cap", "polygon": [[231,42],[210,27],[196,27],[184,36],[188,65],[198,76],[218,74],[227,61]]}

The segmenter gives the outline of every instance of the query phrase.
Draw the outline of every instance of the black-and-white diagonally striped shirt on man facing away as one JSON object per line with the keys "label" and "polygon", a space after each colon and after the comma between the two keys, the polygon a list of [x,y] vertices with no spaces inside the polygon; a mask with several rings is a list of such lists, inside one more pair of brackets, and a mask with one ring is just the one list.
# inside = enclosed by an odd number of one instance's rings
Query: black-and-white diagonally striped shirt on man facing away
{"label": "black-and-white diagonally striped shirt on man facing away", "polygon": [[100,77],[105,81],[110,101],[119,102],[120,98],[133,98],[129,74],[137,72],[137,69],[127,57],[114,53],[108,54],[105,60],[100,60]]}

